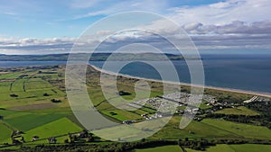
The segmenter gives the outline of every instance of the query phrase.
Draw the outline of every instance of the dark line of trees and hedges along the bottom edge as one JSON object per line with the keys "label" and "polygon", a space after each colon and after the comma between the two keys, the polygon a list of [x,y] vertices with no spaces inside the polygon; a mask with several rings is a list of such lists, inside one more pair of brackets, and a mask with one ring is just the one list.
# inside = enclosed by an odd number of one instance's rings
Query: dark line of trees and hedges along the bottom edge
{"label": "dark line of trees and hedges along the bottom edge", "polygon": [[[82,138],[93,138],[92,134],[82,132],[79,136]],[[76,138],[79,139],[79,136]],[[75,136],[72,134],[69,135],[70,139],[73,139]],[[47,152],[47,151],[70,151],[70,152],[88,152],[88,151],[97,151],[97,152],[124,152],[130,151],[135,148],[155,148],[168,145],[179,145],[184,151],[184,148],[192,148],[195,150],[204,151],[206,148],[216,146],[216,144],[271,144],[270,140],[261,140],[261,139],[179,139],[179,140],[146,140],[142,139],[136,142],[112,142],[107,144],[94,144],[94,143],[85,143],[85,142],[69,142],[64,145],[51,144],[51,145],[38,145],[35,147],[25,147],[21,146],[17,151],[38,151],[38,152]]]}

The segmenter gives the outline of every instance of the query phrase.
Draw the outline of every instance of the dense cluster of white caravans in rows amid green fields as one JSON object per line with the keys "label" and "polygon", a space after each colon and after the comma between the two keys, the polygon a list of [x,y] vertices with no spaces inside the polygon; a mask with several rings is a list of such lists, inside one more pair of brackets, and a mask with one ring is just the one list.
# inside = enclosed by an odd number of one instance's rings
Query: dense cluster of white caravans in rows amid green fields
{"label": "dense cluster of white caravans in rows amid green fields", "polygon": [[[201,104],[201,98],[211,104],[217,103],[216,98],[211,95],[202,96],[202,94],[175,92],[173,94],[164,94],[163,96],[156,96],[154,98],[127,103],[127,105],[136,109],[142,107],[153,109],[156,112],[146,112],[145,114],[141,115],[143,118],[145,118],[145,120],[153,120],[167,115],[173,115],[174,113],[183,114],[184,112],[191,112],[192,114],[196,114],[199,110],[198,107]],[[182,106],[189,108],[180,108]],[[125,124],[134,122],[135,121],[123,121]]]}

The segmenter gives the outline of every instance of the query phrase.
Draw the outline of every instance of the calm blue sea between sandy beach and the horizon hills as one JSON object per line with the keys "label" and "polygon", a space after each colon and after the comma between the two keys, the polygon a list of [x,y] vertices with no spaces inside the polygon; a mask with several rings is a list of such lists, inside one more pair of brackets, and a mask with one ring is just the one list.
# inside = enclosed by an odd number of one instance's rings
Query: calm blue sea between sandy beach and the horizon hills
{"label": "calm blue sea between sandy beach and the horizon hills", "polygon": [[[271,93],[271,55],[202,55],[205,73],[205,85],[227,87],[248,91]],[[65,64],[64,61],[0,61],[0,67],[29,67],[41,65]],[[102,67],[103,62],[95,61],[90,64]],[[122,65],[114,62],[113,65]],[[159,67],[166,67],[164,61],[154,62]],[[173,61],[180,81],[190,83],[190,74],[185,61]],[[166,68],[162,68],[167,70]],[[110,69],[116,72],[115,69]],[[159,73],[143,62],[126,65],[120,71],[130,76],[161,79]],[[169,79],[170,80],[170,79]]]}

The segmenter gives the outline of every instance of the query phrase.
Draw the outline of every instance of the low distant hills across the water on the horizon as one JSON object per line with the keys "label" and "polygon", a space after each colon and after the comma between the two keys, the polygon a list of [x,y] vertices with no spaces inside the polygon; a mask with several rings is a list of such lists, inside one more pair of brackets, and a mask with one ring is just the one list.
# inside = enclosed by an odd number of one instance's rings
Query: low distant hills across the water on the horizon
{"label": "low distant hills across the water on the horizon", "polygon": [[[87,53],[74,54],[77,57],[86,57]],[[90,58],[91,61],[105,61],[111,53],[94,53]],[[113,54],[114,60],[182,60],[180,55],[157,53],[117,53]],[[0,54],[0,61],[66,61],[69,54],[48,54],[48,55],[4,55]],[[76,58],[74,60],[77,60]]]}

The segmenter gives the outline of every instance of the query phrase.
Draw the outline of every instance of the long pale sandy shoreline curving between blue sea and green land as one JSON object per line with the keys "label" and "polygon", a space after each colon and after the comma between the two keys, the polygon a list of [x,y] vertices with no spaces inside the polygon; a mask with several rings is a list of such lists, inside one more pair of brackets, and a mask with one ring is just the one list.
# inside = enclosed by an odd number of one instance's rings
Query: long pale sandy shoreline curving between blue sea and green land
{"label": "long pale sandy shoreline curving between blue sea and green land", "polygon": [[241,89],[234,89],[234,88],[223,88],[223,87],[210,86],[210,85],[192,85],[192,84],[182,83],[182,82],[163,81],[163,80],[145,78],[145,77],[139,77],[139,76],[130,76],[130,75],[125,75],[125,74],[117,74],[115,72],[110,72],[110,71],[101,69],[101,68],[96,67],[94,65],[89,64],[89,66],[96,69],[96,70],[98,70],[99,72],[103,72],[103,73],[106,73],[106,74],[109,74],[109,75],[125,76],[127,78],[135,78],[135,79],[141,79],[141,80],[146,80],[146,81],[154,81],[154,82],[160,82],[160,83],[167,83],[167,84],[173,84],[173,85],[195,86],[195,87],[201,87],[203,89],[206,88],[206,89],[219,90],[219,91],[238,93],[238,94],[252,94],[252,95],[264,96],[264,97],[271,98],[271,93],[255,92],[255,91],[248,91],[248,90],[241,90]]}

